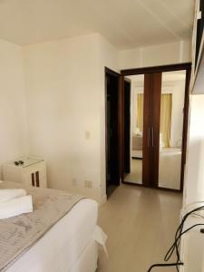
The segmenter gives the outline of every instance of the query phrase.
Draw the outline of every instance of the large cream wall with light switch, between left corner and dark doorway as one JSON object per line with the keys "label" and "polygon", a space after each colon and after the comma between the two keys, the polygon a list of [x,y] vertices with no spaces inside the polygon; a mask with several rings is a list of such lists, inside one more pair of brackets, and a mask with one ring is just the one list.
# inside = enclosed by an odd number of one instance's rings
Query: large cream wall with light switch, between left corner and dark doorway
{"label": "large cream wall with light switch, between left corner and dark doorway", "polygon": [[105,199],[104,66],[117,60],[99,34],[24,47],[30,152],[49,187]]}

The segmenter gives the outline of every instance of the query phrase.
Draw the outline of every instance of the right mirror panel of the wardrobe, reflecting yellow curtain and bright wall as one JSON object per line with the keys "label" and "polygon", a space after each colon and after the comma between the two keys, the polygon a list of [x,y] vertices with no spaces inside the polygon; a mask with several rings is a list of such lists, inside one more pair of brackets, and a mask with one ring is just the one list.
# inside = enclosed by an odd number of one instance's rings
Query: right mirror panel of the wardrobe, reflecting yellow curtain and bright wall
{"label": "right mirror panel of the wardrobe, reflecting yellow curtain and bright wall", "polygon": [[180,189],[186,71],[162,73],[159,187]]}

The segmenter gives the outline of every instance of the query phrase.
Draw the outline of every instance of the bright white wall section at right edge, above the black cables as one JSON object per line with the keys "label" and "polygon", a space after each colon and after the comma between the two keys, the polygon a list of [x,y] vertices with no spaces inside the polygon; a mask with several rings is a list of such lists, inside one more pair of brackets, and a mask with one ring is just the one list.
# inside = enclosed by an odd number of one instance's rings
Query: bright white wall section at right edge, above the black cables
{"label": "bright white wall section at right edge, above the black cables", "polygon": [[204,201],[204,95],[192,95],[184,204]]}

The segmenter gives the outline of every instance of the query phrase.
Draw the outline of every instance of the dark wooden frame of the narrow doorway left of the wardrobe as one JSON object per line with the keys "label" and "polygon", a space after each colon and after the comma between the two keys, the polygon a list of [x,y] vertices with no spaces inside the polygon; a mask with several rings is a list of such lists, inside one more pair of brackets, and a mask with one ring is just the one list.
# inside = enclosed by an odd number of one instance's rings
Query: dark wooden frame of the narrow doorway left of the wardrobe
{"label": "dark wooden frame of the narrow doorway left of the wardrobe", "polygon": [[[118,153],[118,176],[119,176],[119,182],[116,185],[120,185],[120,179],[121,179],[121,152],[120,152],[120,145],[121,145],[121,129],[120,129],[120,89],[121,89],[121,74],[120,73],[116,73],[114,72],[112,69],[108,68],[108,67],[104,67],[104,84],[105,84],[105,177],[106,177],[106,181],[107,181],[107,155],[108,155],[108,146],[107,146],[107,101],[106,101],[106,94],[107,94],[107,85],[106,85],[106,76],[107,75],[112,75],[114,76],[116,79],[118,79],[118,149],[119,149],[119,153]],[[107,188],[106,188],[107,189]]]}

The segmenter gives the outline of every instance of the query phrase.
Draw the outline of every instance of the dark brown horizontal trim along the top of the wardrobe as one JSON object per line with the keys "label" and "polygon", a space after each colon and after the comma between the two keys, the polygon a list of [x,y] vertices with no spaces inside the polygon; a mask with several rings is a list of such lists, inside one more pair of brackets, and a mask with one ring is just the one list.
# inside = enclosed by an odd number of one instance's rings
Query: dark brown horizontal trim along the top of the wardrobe
{"label": "dark brown horizontal trim along the top of the wardrobe", "polygon": [[134,69],[121,70],[123,76],[142,74],[142,73],[163,73],[170,71],[180,71],[180,70],[189,70],[191,69],[191,63],[176,63],[170,65],[160,65],[160,66],[150,66]]}

